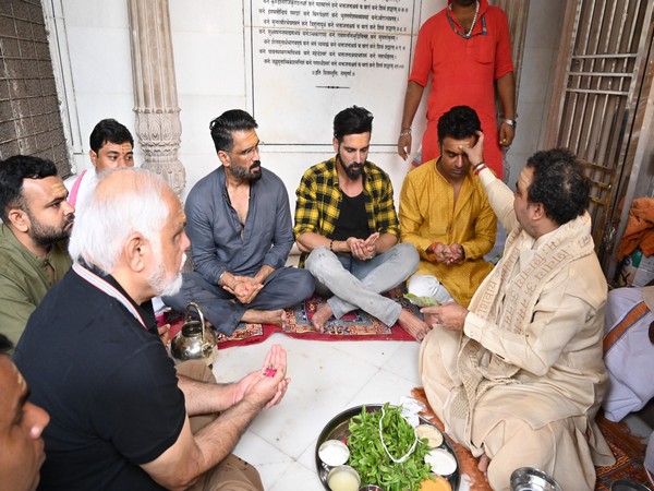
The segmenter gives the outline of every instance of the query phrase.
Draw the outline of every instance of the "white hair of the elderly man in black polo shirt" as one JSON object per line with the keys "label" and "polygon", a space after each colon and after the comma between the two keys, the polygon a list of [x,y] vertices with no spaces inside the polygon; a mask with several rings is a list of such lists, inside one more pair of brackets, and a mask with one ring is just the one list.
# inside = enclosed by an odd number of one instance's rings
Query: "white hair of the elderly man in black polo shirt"
{"label": "white hair of the elderly man in black polo shirt", "polygon": [[[112,176],[121,178],[120,187],[104,185]],[[104,189],[107,187],[109,190]],[[160,232],[170,213],[164,201],[167,192],[172,193],[168,184],[145,169],[126,168],[100,173],[89,199],[75,214],[69,242],[73,261],[84,260],[110,273],[134,232],[143,235],[155,250],[160,250]]]}

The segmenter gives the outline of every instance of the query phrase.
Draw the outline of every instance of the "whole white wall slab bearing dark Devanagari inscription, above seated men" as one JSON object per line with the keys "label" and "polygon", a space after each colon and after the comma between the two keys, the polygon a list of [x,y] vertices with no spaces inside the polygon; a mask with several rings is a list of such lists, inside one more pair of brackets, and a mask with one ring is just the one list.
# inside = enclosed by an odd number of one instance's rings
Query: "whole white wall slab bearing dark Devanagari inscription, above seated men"
{"label": "whole white wall slab bearing dark Devanagari inscription, above seated men", "polygon": [[[376,118],[395,111],[410,68],[415,1],[251,0],[257,119],[266,116],[262,104],[284,97],[330,118],[350,101],[378,106]],[[390,93],[397,105],[388,104]]]}

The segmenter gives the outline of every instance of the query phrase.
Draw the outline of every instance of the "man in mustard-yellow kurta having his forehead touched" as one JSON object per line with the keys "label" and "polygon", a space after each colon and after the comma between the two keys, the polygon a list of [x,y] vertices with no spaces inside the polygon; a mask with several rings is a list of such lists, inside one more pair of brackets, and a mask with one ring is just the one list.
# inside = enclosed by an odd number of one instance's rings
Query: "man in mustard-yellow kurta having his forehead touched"
{"label": "man in mustard-yellow kurta having his forehead touched", "polygon": [[462,146],[474,146],[481,131],[476,112],[456,106],[438,120],[440,157],[409,172],[400,194],[401,241],[417,249],[421,261],[409,294],[468,307],[493,270],[484,260],[497,218],[486,192],[474,179]]}

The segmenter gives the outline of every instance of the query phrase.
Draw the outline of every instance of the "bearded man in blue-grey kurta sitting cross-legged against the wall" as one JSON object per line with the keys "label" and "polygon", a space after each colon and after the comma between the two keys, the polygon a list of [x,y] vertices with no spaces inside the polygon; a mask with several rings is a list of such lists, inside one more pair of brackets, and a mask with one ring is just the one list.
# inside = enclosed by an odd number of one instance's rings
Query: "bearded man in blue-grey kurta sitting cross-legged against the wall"
{"label": "bearded man in blue-grey kurta sitting cross-legged against the wall", "polygon": [[284,326],[283,309],[310,297],[307,271],[286,267],[293,246],[289,197],[281,179],[263,169],[256,121],[233,109],[211,121],[221,166],[186,199],[186,235],[194,271],[164,302],[178,311],[196,302],[220,332],[240,322]]}

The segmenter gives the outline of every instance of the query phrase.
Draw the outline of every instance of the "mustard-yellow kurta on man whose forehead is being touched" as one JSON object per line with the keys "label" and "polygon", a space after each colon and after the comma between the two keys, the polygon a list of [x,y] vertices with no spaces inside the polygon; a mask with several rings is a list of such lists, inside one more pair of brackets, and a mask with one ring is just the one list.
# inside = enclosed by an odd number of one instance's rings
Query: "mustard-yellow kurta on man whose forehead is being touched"
{"label": "mustard-yellow kurta on man whose forehead is being touched", "polygon": [[[497,217],[479,179],[465,177],[456,206],[455,190],[428,161],[404,178],[400,194],[400,239],[415,246],[421,261],[415,274],[436,278],[455,300],[468,307],[482,280],[493,270],[484,260],[495,243]],[[461,264],[445,265],[427,260],[432,242],[460,243],[465,251]]]}

